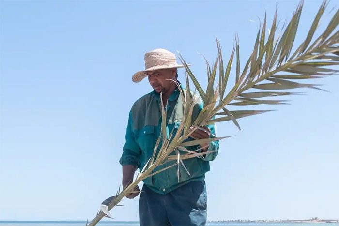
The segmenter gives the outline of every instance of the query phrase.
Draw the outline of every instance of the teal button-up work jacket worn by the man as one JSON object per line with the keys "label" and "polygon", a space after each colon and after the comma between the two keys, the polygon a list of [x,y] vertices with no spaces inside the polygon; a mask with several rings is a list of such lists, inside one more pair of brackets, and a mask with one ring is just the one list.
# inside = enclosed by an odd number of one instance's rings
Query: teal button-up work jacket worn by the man
{"label": "teal button-up work jacket worn by the man", "polygon": [[[183,89],[185,90],[185,89]],[[192,121],[196,119],[203,103],[199,99],[194,106]],[[180,91],[175,90],[170,98],[168,99],[167,110],[167,136],[169,133],[179,127],[180,122],[183,118],[183,107],[182,107],[182,96]],[[160,95],[155,91],[152,91],[139,100],[137,100],[129,113],[128,124],[126,129],[126,142],[123,147],[123,154],[120,158],[120,164],[134,165],[140,169],[147,163],[151,158],[156,141],[161,132],[161,101]],[[216,136],[215,125],[208,126],[211,129],[212,135]],[[193,140],[188,138],[188,140]],[[188,147],[190,150],[197,150],[199,146]],[[143,183],[147,185],[154,192],[160,194],[166,194],[174,189],[188,183],[189,181],[203,180],[205,173],[210,170],[209,161],[216,158],[219,149],[219,142],[210,142],[208,151],[216,150],[215,152],[207,153],[204,158],[190,158],[183,160],[186,168],[190,175],[187,173],[185,168],[179,166],[179,178],[177,174],[178,167],[173,166],[167,170],[157,173],[151,177],[143,180]],[[182,152],[186,153],[186,152]],[[175,153],[173,153],[175,155]],[[154,169],[154,172],[173,165],[174,161],[167,162]]]}

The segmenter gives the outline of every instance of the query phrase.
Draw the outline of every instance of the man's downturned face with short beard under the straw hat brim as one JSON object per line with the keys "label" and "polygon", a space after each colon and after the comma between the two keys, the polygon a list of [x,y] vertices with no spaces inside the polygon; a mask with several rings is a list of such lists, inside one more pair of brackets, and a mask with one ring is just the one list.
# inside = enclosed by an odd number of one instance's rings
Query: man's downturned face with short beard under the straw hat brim
{"label": "man's downturned face with short beard under the straw hat brim", "polygon": [[157,93],[166,93],[173,86],[173,81],[167,79],[176,81],[176,73],[176,68],[150,71],[147,72],[148,81]]}

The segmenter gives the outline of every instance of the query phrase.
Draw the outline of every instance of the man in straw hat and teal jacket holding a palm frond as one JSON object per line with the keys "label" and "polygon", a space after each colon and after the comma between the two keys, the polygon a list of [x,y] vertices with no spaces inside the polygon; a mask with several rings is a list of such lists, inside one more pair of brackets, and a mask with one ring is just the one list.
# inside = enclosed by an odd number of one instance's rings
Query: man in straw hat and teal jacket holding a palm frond
{"label": "man in straw hat and teal jacket holding a palm frond", "polygon": [[[123,166],[123,187],[133,181],[137,168],[142,169],[153,154],[156,140],[161,133],[160,93],[167,111],[168,131],[173,130],[175,133],[183,118],[180,91],[173,80],[177,81],[177,68],[184,66],[177,64],[175,55],[165,49],[146,53],[144,60],[146,69],[134,74],[132,80],[140,82],[148,77],[154,91],[137,100],[129,113],[126,142],[120,158],[120,164]],[[202,107],[201,101],[196,103],[192,121],[196,119]],[[194,130],[189,139],[205,139],[212,136],[215,136],[215,127],[210,125]],[[201,158],[183,160],[189,174],[180,166],[178,178],[178,168],[175,166],[143,180],[139,200],[140,225],[205,225],[207,195],[204,175],[210,170],[209,161],[216,158],[218,148],[218,141],[190,147],[190,150],[215,152],[209,152],[204,157],[200,156]],[[158,166],[154,171],[172,164],[170,162]],[[134,191],[136,193],[130,193],[126,197],[138,196],[139,187],[136,186]]]}

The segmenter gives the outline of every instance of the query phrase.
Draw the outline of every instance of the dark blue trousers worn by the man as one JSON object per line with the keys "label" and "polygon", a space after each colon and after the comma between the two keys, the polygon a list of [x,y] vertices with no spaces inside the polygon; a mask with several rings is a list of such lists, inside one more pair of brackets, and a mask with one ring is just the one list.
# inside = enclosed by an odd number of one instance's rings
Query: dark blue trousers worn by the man
{"label": "dark blue trousers worn by the man", "polygon": [[207,218],[205,181],[189,183],[167,194],[143,185],[139,199],[140,226],[204,226]]}

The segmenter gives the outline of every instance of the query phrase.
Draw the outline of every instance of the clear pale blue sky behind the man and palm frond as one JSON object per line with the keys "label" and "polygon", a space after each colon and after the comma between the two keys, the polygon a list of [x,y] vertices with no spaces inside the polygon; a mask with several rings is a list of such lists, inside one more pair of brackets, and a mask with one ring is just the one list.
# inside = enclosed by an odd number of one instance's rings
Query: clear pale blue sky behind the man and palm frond
{"label": "clear pale blue sky behind the man and palm frond", "polygon": [[[278,1],[281,24],[297,3]],[[298,45],[320,4],[305,1]],[[131,80],[144,53],[180,51],[205,86],[197,52],[215,59],[218,37],[228,58],[237,32],[244,65],[257,16],[266,11],[271,25],[275,7],[273,0],[1,0],[0,220],[91,219],[121,182],[130,107],[151,91],[147,80]],[[308,95],[291,97],[291,105],[251,107],[278,111],[239,120],[241,132],[217,124],[219,136],[237,136],[221,142],[206,175],[209,220],[339,218],[339,78],[315,83],[330,92],[298,90]],[[138,201],[123,200],[115,219],[138,220]]]}

